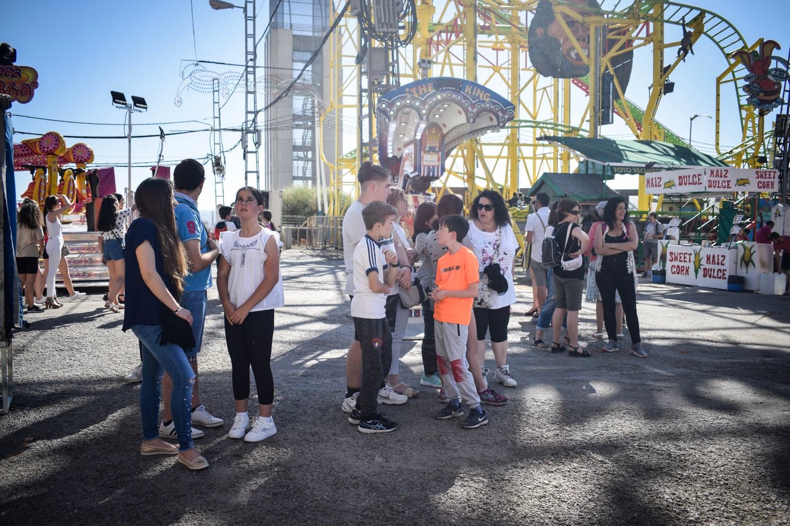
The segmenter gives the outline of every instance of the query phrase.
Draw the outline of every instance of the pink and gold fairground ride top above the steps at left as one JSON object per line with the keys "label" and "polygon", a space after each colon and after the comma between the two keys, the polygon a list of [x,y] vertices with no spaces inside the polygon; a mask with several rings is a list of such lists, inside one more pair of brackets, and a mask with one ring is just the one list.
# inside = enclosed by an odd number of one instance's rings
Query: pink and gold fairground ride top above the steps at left
{"label": "pink and gold fairground ride top above the steps at left", "polygon": [[[90,146],[78,142],[66,147],[66,141],[58,132],[47,132],[13,145],[14,171],[29,170],[33,176],[21,197],[29,197],[43,206],[47,196],[62,193],[73,203],[67,212],[70,214],[85,213],[85,205],[92,201],[91,189],[85,180],[85,166],[92,162]],[[74,169],[60,170],[71,163],[76,165]]]}

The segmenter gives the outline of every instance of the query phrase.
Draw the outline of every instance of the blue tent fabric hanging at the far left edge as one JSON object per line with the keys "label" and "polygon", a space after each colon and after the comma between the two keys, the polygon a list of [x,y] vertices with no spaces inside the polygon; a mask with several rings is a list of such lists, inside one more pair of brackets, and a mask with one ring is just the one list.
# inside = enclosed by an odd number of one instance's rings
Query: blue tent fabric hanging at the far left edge
{"label": "blue tent fabric hanging at the far left edge", "polygon": [[[3,265],[5,268],[5,297],[6,312],[9,317],[3,320],[6,323],[6,334],[10,334],[10,328],[21,326],[22,306],[21,288],[19,286],[19,276],[17,275],[17,183],[13,177],[13,127],[11,126],[11,116],[2,111],[5,131],[3,141],[6,142],[6,170],[5,178],[0,177],[0,184],[6,190],[3,193],[3,217],[0,218],[6,226],[3,228]],[[2,161],[2,160],[0,160]],[[0,171],[0,175],[3,172]]]}

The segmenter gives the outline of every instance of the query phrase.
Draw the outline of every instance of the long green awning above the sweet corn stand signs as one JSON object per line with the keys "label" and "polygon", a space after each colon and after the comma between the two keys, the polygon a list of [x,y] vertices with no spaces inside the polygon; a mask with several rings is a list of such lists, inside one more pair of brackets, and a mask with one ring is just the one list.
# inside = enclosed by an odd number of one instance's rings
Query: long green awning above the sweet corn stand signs
{"label": "long green awning above the sweet corn stand signs", "polygon": [[[651,171],[728,166],[694,148],[660,141],[593,139],[590,137],[538,137],[580,156],[579,171],[613,177]],[[650,164],[653,163],[653,164]],[[648,167],[649,165],[649,167]]]}

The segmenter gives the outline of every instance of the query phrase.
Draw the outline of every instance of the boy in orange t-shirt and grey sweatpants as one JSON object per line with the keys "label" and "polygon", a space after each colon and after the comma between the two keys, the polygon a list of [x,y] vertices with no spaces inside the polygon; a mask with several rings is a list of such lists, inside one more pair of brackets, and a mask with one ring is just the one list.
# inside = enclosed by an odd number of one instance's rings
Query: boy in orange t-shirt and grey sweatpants
{"label": "boy in orange t-shirt and grey sweatpants", "polygon": [[444,216],[439,220],[436,237],[448,252],[436,264],[434,300],[434,336],[436,339],[436,364],[442,377],[442,388],[450,401],[438,411],[438,419],[451,419],[464,415],[461,396],[469,406],[469,415],[461,427],[472,429],[488,423],[480,407],[480,396],[469,374],[466,361],[468,325],[472,317],[472,301],[477,297],[478,263],[475,254],[461,245],[469,231],[463,216]]}

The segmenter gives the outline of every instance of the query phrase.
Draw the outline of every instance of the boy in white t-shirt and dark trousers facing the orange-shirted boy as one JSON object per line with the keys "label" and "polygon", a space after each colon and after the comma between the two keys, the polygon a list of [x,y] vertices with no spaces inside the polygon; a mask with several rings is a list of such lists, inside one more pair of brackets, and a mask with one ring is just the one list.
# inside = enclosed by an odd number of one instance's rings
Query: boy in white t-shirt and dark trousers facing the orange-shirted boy
{"label": "boy in white t-shirt and dark trousers facing the orange-shirted boy", "polygon": [[354,250],[354,296],[351,315],[362,346],[362,388],[348,422],[362,433],[388,433],[397,423],[378,412],[378,390],[392,364],[392,334],[386,318],[386,297],[397,279],[393,251],[382,252],[379,241],[392,235],[397,210],[372,201],[362,211],[367,235]]}

